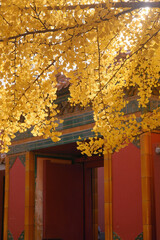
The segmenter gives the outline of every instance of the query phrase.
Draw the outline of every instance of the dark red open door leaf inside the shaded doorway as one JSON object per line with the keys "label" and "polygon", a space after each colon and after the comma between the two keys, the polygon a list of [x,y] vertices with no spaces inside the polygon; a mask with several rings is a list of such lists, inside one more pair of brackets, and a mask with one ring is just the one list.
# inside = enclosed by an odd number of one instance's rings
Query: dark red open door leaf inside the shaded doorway
{"label": "dark red open door leaf inside the shaded doorway", "polygon": [[83,239],[83,167],[44,161],[44,238]]}

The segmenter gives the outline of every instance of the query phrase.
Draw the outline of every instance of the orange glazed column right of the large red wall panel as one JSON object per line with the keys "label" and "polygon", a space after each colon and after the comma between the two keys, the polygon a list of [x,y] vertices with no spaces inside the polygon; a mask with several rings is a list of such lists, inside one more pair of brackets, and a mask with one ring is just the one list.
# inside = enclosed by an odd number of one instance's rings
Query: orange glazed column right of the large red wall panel
{"label": "orange glazed column right of the large red wall panel", "polygon": [[151,133],[144,133],[140,139],[143,239],[153,239],[154,229],[154,183]]}

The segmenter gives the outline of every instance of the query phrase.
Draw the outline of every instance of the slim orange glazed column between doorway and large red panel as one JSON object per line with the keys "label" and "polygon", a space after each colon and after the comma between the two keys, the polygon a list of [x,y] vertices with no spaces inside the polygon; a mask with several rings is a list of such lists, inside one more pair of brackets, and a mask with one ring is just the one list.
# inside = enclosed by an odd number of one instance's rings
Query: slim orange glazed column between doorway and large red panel
{"label": "slim orange glazed column between doorway and large red panel", "polygon": [[105,240],[112,240],[112,157],[111,153],[104,155],[104,211]]}

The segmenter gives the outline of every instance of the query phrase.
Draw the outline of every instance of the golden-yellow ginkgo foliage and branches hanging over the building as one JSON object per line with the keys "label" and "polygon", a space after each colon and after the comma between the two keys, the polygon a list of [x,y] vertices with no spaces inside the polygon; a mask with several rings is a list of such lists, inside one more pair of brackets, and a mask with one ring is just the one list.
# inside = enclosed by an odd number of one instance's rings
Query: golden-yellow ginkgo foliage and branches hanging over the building
{"label": "golden-yellow ginkgo foliage and branches hanging over the building", "polygon": [[[70,104],[93,110],[95,137],[79,142],[82,153],[118,150],[157,129],[160,109],[148,103],[154,92],[159,99],[159,41],[159,1],[1,1],[1,152],[30,128],[60,139],[57,73],[70,79]],[[139,120],[123,111],[130,89]]]}

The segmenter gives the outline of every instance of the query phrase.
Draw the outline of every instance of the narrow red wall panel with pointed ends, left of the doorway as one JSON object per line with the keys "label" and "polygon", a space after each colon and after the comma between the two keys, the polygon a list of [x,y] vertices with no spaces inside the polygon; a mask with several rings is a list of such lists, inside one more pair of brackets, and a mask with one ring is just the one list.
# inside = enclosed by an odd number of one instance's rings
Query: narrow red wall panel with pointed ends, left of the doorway
{"label": "narrow red wall panel with pointed ends, left of the doorway", "polygon": [[17,157],[10,169],[8,230],[17,240],[24,231],[25,167]]}

